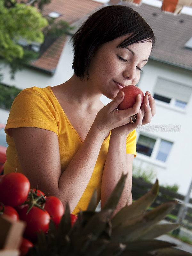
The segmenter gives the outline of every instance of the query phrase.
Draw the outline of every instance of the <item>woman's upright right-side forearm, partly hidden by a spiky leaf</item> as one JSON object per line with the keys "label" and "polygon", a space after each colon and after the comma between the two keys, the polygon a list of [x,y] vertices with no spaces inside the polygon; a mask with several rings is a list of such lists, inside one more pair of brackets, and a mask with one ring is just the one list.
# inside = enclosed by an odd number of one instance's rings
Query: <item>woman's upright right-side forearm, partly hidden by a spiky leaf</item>
{"label": "woman's upright right-side forearm, partly hidden by a spiky leaf", "polygon": [[126,160],[126,137],[118,138],[111,134],[101,183],[101,209],[120,180],[122,172],[128,173],[121,198],[113,215],[123,208],[128,200],[128,204],[132,204],[132,164],[128,166],[129,169],[127,169]]}

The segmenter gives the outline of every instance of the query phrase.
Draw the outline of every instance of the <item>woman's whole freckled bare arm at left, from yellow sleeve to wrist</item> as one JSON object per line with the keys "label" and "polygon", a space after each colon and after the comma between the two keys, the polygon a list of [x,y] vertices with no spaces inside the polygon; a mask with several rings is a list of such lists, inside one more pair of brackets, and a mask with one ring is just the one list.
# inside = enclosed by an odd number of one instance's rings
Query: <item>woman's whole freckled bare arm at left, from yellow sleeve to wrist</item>
{"label": "woman's whole freckled bare arm at left, from yellow sleeve to wrist", "polygon": [[13,128],[12,135],[23,172],[31,188],[57,196],[73,212],[91,179],[105,135],[92,125],[82,146],[61,174],[58,136],[36,127]]}

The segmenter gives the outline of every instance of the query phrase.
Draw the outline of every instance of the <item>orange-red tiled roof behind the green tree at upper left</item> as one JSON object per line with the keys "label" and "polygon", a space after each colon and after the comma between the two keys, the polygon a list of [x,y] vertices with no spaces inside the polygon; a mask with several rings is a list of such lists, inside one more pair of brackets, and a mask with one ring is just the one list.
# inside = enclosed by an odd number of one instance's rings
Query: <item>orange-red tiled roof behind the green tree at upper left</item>
{"label": "orange-red tiled roof behind the green tree at upper left", "polygon": [[[20,1],[21,0],[18,2]],[[37,4],[35,6],[37,7]],[[52,0],[50,4],[44,5],[44,9],[41,13],[45,18],[50,12],[60,13],[61,16],[58,17],[57,20],[65,20],[70,26],[76,25],[76,29],[73,30],[73,33],[75,33],[80,24],[92,12],[101,7],[103,7],[102,3],[91,0]],[[46,41],[49,41],[49,39]],[[41,49],[41,56],[37,60],[32,61],[28,66],[53,75],[66,41],[67,36],[59,36],[51,45],[50,42],[48,42],[49,47],[47,47],[44,42],[44,45],[42,45],[43,50]]]}

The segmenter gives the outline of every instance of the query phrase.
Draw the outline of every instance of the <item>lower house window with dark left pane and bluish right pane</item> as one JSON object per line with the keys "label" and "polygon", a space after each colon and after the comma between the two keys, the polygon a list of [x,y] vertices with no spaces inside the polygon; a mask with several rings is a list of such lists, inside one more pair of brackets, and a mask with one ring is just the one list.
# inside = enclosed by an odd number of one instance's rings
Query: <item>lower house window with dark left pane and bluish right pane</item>
{"label": "lower house window with dark left pane and bluish right pane", "polygon": [[160,138],[151,138],[140,134],[137,141],[137,153],[150,157],[153,160],[166,162],[172,148],[172,142]]}

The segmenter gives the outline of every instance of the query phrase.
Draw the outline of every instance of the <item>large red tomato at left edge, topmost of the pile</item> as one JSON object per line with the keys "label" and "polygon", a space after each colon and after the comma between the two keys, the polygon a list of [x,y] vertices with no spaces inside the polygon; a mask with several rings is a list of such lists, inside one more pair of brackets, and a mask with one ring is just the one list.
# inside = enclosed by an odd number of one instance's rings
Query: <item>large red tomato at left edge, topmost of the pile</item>
{"label": "large red tomato at left edge, topmost of the pile", "polygon": [[0,202],[15,207],[25,202],[30,189],[29,180],[19,172],[11,172],[0,179]]}

